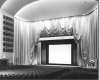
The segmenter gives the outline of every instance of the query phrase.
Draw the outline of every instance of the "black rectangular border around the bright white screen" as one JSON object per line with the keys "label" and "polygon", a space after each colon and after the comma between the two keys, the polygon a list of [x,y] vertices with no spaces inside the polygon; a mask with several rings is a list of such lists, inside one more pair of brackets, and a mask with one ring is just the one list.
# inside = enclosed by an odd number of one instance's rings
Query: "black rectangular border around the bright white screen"
{"label": "black rectangular border around the bright white screen", "polygon": [[[60,44],[71,44],[71,64],[55,64],[55,63],[49,63],[49,45],[60,45]],[[73,40],[54,40],[54,41],[47,41],[46,42],[46,64],[47,65],[76,65],[74,63],[74,55],[73,55],[73,47],[74,42]]]}

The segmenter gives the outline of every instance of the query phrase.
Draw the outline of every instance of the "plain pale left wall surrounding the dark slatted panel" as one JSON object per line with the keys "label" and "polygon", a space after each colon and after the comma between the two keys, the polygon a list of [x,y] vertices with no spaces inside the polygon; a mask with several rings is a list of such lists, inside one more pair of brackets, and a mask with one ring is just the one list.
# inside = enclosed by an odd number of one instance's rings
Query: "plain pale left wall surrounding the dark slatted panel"
{"label": "plain pale left wall surrounding the dark slatted panel", "polygon": [[[3,58],[5,58],[5,59],[9,59],[9,63],[13,63],[13,52],[4,52],[3,51],[3,38],[4,38],[4,36],[3,36],[3,27],[4,27],[4,24],[3,24],[3,21],[4,21],[4,19],[3,19],[3,16],[4,15],[6,15],[6,16],[8,16],[8,17],[10,17],[10,18],[12,18],[13,19],[13,17],[10,15],[10,14],[8,14],[8,13],[6,13],[6,12],[4,12],[4,11],[0,11],[0,59],[3,59]],[[13,23],[14,24],[14,23]],[[13,26],[14,27],[14,26]],[[8,42],[8,44],[9,44],[9,42]]]}

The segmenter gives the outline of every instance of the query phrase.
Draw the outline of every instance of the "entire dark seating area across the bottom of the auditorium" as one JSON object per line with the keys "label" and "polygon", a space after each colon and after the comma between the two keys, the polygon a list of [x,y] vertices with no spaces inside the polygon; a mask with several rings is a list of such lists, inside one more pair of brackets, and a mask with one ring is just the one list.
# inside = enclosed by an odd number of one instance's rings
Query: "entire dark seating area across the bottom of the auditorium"
{"label": "entire dark seating area across the bottom of the auditorium", "polygon": [[[6,74],[2,74],[6,73]],[[0,79],[97,79],[98,70],[81,67],[12,66],[0,71]]]}

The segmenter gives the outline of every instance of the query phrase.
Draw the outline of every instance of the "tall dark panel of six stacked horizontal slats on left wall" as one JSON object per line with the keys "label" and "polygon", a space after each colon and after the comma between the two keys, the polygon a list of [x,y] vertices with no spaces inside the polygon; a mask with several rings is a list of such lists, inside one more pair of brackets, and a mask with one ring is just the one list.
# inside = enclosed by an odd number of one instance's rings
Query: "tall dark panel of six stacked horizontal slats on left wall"
{"label": "tall dark panel of six stacked horizontal slats on left wall", "polygon": [[3,52],[13,52],[14,19],[3,15]]}

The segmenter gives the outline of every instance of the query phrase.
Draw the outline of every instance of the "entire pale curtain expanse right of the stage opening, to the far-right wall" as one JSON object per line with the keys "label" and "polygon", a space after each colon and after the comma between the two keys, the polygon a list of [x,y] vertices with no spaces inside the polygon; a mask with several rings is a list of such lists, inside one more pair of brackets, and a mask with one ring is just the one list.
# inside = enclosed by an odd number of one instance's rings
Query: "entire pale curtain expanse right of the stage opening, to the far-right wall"
{"label": "entire pale curtain expanse right of the stage opening, to the far-right wall", "polygon": [[73,21],[73,35],[79,44],[79,64],[96,68],[99,54],[98,8],[88,15],[74,17]]}

